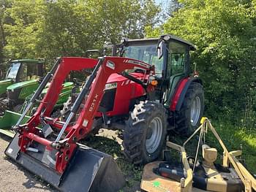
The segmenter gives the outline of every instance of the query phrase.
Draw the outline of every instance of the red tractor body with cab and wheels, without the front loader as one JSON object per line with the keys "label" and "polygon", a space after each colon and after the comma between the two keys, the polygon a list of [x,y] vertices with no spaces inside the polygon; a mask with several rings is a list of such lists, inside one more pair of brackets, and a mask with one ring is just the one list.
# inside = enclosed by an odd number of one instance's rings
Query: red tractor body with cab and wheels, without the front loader
{"label": "red tractor body with cab and wheels, without the front loader", "polygon": [[[111,74],[99,105],[102,111],[97,114],[105,128],[122,130],[127,158],[134,164],[146,164],[159,156],[167,131],[175,129],[187,135],[200,125],[203,82],[189,76],[189,51],[195,47],[178,37],[164,35],[123,39],[113,50],[113,55],[154,66],[154,75],[146,75],[141,69]],[[154,91],[147,91],[138,80],[153,84]],[[102,127],[102,121],[98,123],[97,127]]]}

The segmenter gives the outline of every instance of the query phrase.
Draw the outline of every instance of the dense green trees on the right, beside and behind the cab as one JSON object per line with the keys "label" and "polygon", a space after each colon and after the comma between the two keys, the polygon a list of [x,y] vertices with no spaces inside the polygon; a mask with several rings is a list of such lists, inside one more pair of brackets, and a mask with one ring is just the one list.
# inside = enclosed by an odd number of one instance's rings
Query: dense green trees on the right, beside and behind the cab
{"label": "dense green trees on the right, beside and behind the cab", "polygon": [[184,7],[154,31],[147,28],[148,37],[169,33],[194,42],[208,114],[238,120],[255,90],[255,7],[236,0],[179,2]]}

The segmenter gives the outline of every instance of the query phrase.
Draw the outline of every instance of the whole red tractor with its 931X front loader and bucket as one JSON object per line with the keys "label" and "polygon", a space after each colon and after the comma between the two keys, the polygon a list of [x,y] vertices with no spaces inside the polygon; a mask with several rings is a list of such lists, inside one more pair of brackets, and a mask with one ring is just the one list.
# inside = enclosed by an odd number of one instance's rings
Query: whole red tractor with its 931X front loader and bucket
{"label": "whole red tractor with its 931X front loader and bucket", "polygon": [[[79,141],[100,127],[120,129],[129,161],[146,164],[159,156],[167,131],[193,131],[204,96],[202,81],[189,76],[190,50],[189,42],[164,35],[124,39],[117,56],[58,58],[13,127],[6,155],[60,191],[117,191],[124,180],[113,158]],[[65,78],[83,69],[93,72],[66,117],[51,117]],[[23,124],[48,82],[37,112]]]}

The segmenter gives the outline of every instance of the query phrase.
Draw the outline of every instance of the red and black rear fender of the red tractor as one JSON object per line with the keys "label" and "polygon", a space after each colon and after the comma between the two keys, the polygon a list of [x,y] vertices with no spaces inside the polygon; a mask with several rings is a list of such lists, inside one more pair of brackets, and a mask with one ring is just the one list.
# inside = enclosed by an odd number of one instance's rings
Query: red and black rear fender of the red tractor
{"label": "red and black rear fender of the red tractor", "polygon": [[186,77],[183,80],[181,80],[178,87],[176,88],[176,93],[174,94],[170,104],[171,111],[174,112],[181,110],[181,106],[185,99],[187,90],[192,82],[197,82],[203,85],[203,81],[198,77]]}

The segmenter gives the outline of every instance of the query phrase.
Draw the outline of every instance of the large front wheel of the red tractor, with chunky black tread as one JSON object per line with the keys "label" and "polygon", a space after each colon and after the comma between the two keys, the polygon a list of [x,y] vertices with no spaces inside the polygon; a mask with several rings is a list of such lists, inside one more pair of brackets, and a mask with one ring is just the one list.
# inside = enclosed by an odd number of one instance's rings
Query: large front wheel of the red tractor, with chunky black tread
{"label": "large front wheel of the red tractor, with chunky black tread", "polygon": [[167,114],[162,104],[140,101],[126,122],[124,154],[134,164],[154,161],[162,151],[166,130]]}

